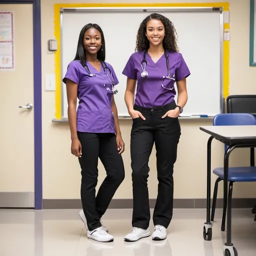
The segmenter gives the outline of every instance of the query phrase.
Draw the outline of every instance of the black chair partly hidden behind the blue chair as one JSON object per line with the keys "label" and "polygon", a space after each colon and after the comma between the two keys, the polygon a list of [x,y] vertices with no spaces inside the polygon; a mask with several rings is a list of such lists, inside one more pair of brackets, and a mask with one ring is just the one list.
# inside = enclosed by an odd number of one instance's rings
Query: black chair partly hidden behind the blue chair
{"label": "black chair partly hidden behind the blue chair", "polygon": [[[227,113],[250,113],[256,116],[256,95],[229,95],[226,97]],[[254,166],[254,148],[250,148],[250,166]],[[256,204],[251,210],[256,214]],[[256,215],[254,220],[256,221]]]}

